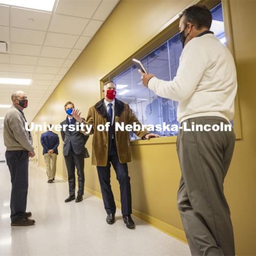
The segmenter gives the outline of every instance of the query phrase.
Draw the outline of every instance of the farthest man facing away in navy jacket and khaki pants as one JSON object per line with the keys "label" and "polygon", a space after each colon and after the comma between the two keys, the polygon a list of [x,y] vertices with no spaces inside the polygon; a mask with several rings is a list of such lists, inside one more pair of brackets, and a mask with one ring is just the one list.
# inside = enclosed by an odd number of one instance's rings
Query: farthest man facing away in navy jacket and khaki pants
{"label": "farthest man facing away in navy jacket and khaki pants", "polygon": [[55,178],[59,143],[60,140],[58,134],[49,131],[49,129],[41,135],[41,144],[43,146],[48,183],[53,183]]}

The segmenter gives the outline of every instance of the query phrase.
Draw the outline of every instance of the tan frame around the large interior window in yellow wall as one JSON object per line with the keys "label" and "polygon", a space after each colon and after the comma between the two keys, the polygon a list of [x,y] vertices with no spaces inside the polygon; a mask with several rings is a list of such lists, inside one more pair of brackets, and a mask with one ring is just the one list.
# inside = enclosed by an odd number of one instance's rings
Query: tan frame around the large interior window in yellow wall
{"label": "tan frame around the large interior window in yellow wall", "polygon": [[[229,51],[233,55],[234,59],[234,45],[233,45],[233,34],[231,30],[231,19],[230,19],[230,7],[229,7],[229,0],[221,1],[221,0],[201,0],[201,1],[194,1],[190,5],[193,4],[203,4],[207,8],[212,9],[217,4],[222,4],[222,12],[223,12],[223,21],[224,21],[224,28],[225,28],[225,37],[226,37],[226,46],[228,47]],[[189,5],[189,6],[190,6]],[[185,9],[189,6],[186,6]],[[183,9],[184,10],[184,9]],[[182,12],[182,10],[180,11]],[[143,45],[138,51],[134,52],[130,55],[129,58],[124,60],[120,65],[110,71],[107,75],[102,76],[99,78],[100,84],[100,97],[103,98],[103,84],[111,79],[113,79],[118,74],[121,74],[124,70],[129,68],[133,65],[132,59],[142,59],[148,53],[155,50],[158,46],[162,45],[168,39],[170,39],[175,34],[179,33],[179,15],[175,15],[169,22],[167,22],[162,28],[159,33],[152,38],[148,43]],[[236,134],[236,140],[242,139],[242,131],[241,131],[241,117],[239,111],[239,101],[238,101],[238,92],[235,98],[235,116],[234,116],[234,131]],[[149,144],[162,144],[162,143],[176,143],[177,136],[169,136],[169,137],[160,137],[155,140],[132,140],[131,145],[149,145]]]}

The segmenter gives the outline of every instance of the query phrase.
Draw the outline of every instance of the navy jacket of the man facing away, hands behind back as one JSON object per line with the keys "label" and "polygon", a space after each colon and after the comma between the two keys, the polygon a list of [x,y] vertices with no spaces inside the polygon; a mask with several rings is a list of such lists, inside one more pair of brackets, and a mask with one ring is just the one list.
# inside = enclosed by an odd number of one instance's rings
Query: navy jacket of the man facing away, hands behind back
{"label": "navy jacket of the man facing away, hands behind back", "polygon": [[41,135],[41,144],[43,146],[43,155],[48,153],[50,149],[54,150],[54,153],[58,155],[58,146],[60,140],[58,134],[54,132],[44,132]]}

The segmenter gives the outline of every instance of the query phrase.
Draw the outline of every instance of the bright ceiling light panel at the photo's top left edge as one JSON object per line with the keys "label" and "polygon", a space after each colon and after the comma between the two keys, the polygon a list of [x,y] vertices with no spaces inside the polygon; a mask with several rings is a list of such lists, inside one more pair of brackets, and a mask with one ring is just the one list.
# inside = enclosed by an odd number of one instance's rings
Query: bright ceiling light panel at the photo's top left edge
{"label": "bright ceiling light panel at the photo's top left edge", "polygon": [[7,4],[49,12],[52,11],[54,3],[55,0],[0,0],[0,4]]}

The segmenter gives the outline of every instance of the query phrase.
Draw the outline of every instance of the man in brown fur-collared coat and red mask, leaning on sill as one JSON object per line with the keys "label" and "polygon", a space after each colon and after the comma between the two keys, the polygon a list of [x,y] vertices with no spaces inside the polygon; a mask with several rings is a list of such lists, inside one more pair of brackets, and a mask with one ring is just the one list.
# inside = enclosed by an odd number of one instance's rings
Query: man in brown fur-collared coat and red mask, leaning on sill
{"label": "man in brown fur-collared coat and red mask, leaning on sill", "polygon": [[[102,92],[105,98],[101,99],[89,109],[86,121],[80,117],[81,112],[78,109],[73,111],[73,117],[79,123],[93,126],[90,131],[90,134],[93,134],[92,164],[97,166],[101,193],[107,212],[107,223],[113,224],[115,222],[116,212],[114,196],[110,186],[110,166],[112,164],[120,185],[124,223],[127,228],[134,228],[135,225],[131,218],[131,185],[127,168],[127,162],[131,162],[129,132],[116,131],[115,123],[124,123],[124,125],[133,123],[141,124],[132,113],[128,104],[115,99],[116,85],[114,82],[106,82]],[[104,131],[98,131],[97,126],[99,124],[105,125],[107,122],[110,124],[108,131],[106,129]],[[83,133],[86,132],[85,129]],[[142,139],[158,137],[156,134],[150,134],[142,130],[134,131],[134,133]]]}

